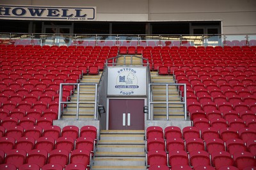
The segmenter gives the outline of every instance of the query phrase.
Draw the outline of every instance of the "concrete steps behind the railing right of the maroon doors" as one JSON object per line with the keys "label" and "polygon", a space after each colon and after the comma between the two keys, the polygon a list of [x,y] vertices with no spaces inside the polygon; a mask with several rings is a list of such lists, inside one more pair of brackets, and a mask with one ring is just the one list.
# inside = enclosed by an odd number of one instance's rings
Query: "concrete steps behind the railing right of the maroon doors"
{"label": "concrete steps behind the railing right of the maroon doors", "polygon": [[[158,75],[157,72],[150,72],[153,83],[174,83],[172,75]],[[165,86],[152,87],[153,102],[166,102]],[[168,101],[180,102],[180,95],[177,86],[168,87]],[[154,104],[154,120],[166,120],[166,104]],[[169,120],[184,120],[184,107],[182,104],[169,105]]]}

